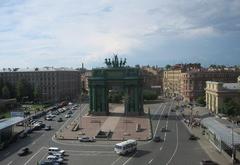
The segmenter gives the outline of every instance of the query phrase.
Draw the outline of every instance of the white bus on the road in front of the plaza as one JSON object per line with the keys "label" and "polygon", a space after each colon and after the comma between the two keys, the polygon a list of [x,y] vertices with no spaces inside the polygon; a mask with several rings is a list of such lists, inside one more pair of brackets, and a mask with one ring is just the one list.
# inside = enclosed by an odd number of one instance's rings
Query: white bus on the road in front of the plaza
{"label": "white bus on the road in front of the plaza", "polygon": [[121,143],[117,143],[114,147],[114,151],[119,155],[126,155],[127,153],[134,152],[137,150],[137,141],[129,139]]}

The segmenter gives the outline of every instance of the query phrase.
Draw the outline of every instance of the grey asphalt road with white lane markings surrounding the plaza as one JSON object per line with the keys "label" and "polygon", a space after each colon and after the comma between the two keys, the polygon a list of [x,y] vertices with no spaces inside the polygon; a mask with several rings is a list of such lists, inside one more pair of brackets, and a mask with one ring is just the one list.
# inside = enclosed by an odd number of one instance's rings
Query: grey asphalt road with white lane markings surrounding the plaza
{"label": "grey asphalt road with white lane markings surrounding the plaza", "polygon": [[[189,141],[189,132],[181,122],[180,117],[171,109],[175,107],[173,101],[153,104],[150,106],[152,116],[153,134],[160,135],[163,142],[153,141],[139,142],[136,153],[128,156],[118,156],[113,152],[116,142],[99,141],[93,144],[80,143],[78,141],[56,141],[53,136],[56,130],[64,127],[74,120],[68,119],[65,123],[48,121],[54,128],[53,131],[36,131],[26,139],[10,145],[4,151],[0,151],[0,164],[8,165],[30,165],[44,159],[49,146],[57,146],[67,153],[65,164],[77,165],[197,165],[202,159],[209,159],[197,141]],[[82,105],[75,111],[74,116],[87,112],[88,105]],[[167,118],[163,116],[168,114]],[[48,123],[47,123],[48,124]],[[167,132],[161,132],[162,127]],[[33,153],[26,157],[17,156],[17,152],[23,146],[29,147]]]}

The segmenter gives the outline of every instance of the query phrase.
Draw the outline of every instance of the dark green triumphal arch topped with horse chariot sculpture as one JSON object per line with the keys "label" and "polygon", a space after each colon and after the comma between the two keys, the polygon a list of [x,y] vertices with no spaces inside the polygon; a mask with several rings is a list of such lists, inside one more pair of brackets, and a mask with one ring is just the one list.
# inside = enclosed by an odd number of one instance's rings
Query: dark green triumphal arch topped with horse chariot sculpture
{"label": "dark green triumphal arch topped with horse chariot sculpture", "polygon": [[140,68],[126,66],[126,58],[105,59],[105,68],[95,68],[89,81],[90,113],[109,115],[108,95],[112,87],[122,89],[125,115],[143,114],[143,78]]}

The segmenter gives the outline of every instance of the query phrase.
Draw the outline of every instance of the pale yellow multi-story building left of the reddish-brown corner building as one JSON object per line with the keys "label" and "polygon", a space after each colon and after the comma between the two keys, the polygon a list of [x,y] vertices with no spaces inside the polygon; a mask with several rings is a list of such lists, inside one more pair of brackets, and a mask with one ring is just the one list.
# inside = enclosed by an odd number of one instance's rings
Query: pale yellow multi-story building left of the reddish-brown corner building
{"label": "pale yellow multi-story building left of the reddish-brown corner building", "polygon": [[182,69],[164,71],[163,92],[166,97],[175,97],[180,94],[180,79]]}

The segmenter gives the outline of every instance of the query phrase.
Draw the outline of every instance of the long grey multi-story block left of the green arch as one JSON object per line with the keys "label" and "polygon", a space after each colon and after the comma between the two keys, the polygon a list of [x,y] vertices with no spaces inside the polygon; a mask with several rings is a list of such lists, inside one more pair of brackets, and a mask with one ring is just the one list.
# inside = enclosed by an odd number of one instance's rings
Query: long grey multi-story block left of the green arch
{"label": "long grey multi-story block left of the green arch", "polygon": [[42,102],[74,99],[81,93],[81,72],[67,68],[3,69],[0,79],[13,86],[24,79],[37,88]]}

